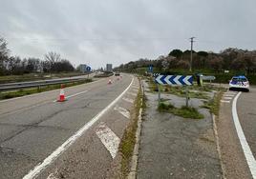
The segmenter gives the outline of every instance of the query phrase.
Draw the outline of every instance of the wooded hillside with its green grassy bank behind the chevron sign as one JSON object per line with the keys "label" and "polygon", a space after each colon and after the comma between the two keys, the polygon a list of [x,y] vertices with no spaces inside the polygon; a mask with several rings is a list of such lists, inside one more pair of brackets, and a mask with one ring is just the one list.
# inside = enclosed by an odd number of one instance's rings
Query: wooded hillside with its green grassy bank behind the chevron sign
{"label": "wooded hillside with its green grassy bank behind the chevron sign", "polygon": [[192,71],[189,71],[189,62],[190,50],[171,50],[168,55],[160,55],[157,59],[140,58],[116,70],[148,75],[149,66],[153,66],[154,73],[213,75],[216,77],[214,83],[228,83],[233,75],[245,74],[250,84],[256,85],[256,50],[193,51]]}

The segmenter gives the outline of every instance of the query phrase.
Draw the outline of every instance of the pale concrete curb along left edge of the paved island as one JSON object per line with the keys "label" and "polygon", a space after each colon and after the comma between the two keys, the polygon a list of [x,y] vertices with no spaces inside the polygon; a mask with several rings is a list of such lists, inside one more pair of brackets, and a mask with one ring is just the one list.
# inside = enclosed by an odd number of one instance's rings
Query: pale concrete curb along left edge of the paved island
{"label": "pale concrete curb along left edge of the paved island", "polygon": [[138,129],[136,131],[136,144],[135,144],[134,152],[133,152],[133,156],[132,156],[131,169],[127,176],[128,179],[136,179],[137,178],[138,158],[139,158],[139,137],[140,137],[140,132],[141,132],[141,124],[142,124],[142,120],[141,120],[142,119],[142,116],[141,116],[142,102],[143,102],[143,99],[141,99],[141,102],[140,102],[141,105],[140,105],[140,109],[139,109]]}

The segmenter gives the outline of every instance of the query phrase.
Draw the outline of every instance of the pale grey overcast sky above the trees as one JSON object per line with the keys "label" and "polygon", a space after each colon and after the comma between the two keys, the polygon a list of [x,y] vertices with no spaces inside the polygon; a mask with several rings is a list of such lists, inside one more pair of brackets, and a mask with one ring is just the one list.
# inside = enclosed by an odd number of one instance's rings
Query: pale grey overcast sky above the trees
{"label": "pale grey overcast sky above the trees", "polygon": [[94,69],[170,50],[256,49],[255,0],[0,0],[11,55],[56,51]]}

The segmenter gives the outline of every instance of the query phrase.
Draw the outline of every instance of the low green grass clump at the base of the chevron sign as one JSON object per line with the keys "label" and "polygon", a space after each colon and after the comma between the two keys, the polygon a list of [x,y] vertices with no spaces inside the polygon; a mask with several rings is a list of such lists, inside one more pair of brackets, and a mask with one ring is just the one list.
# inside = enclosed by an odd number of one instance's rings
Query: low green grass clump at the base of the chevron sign
{"label": "low green grass clump at the base of the chevron sign", "polygon": [[172,104],[160,103],[158,109],[160,112],[170,112],[183,118],[203,119],[203,114],[192,107],[182,106],[181,109],[178,109],[175,108]]}

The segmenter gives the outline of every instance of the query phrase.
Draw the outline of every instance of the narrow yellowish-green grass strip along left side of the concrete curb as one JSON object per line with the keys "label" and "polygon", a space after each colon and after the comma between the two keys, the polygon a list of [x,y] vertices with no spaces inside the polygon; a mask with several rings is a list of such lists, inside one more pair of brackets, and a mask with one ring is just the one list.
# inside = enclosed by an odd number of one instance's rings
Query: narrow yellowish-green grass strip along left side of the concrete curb
{"label": "narrow yellowish-green grass strip along left side of the concrete curb", "polygon": [[[121,178],[126,178],[130,171],[130,162],[133,156],[134,146],[136,144],[136,131],[138,129],[139,109],[141,108],[142,98],[141,88],[135,100],[134,108],[131,113],[131,122],[125,129],[122,136],[119,151],[121,152]],[[143,106],[143,104],[142,104]]]}

